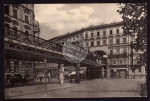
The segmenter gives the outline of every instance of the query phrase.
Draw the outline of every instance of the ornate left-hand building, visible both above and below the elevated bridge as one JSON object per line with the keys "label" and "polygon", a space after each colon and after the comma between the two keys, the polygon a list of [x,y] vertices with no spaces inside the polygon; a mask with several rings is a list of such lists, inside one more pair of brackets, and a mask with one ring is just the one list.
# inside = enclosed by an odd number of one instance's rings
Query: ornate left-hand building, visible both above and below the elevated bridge
{"label": "ornate left-hand building, visible both above and below the elevated bridge", "polygon": [[[8,31],[39,37],[39,22],[35,20],[34,4],[4,4],[5,34]],[[6,73],[33,73],[31,61],[5,57]]]}

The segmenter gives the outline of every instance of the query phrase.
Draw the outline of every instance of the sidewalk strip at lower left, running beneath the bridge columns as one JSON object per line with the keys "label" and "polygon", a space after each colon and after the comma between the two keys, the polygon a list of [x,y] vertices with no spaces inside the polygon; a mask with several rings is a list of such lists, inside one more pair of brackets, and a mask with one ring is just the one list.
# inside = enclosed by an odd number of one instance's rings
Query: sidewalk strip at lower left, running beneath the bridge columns
{"label": "sidewalk strip at lower left, running beneath the bridge columns", "polygon": [[57,82],[53,84],[5,88],[5,98],[26,95],[26,94],[33,94],[33,93],[44,92],[44,91],[50,91],[50,90],[65,89],[65,88],[74,87],[74,86],[77,86],[77,84],[67,83],[67,82],[65,82],[64,84],[60,84],[59,82]]}

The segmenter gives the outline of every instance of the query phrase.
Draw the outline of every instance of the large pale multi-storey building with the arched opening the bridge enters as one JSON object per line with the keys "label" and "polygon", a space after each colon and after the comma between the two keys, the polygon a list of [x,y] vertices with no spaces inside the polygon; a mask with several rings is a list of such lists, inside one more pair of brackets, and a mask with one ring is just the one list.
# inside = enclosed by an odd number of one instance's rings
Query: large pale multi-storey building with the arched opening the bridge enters
{"label": "large pale multi-storey building with the arched opening the bridge enters", "polygon": [[[133,75],[145,75],[144,67],[136,70],[131,69],[132,60],[136,60],[139,54],[131,49],[130,43],[132,37],[125,35],[122,27],[123,22],[89,26],[72,33],[52,38],[47,42],[56,42],[63,45],[66,40],[84,40],[90,52],[97,52],[101,57],[103,55],[107,56],[107,66],[104,69],[104,77],[124,78],[128,75],[129,77]],[[133,57],[131,57],[132,51]],[[99,69],[96,71],[98,72]],[[97,74],[99,75],[102,73],[98,72]]]}

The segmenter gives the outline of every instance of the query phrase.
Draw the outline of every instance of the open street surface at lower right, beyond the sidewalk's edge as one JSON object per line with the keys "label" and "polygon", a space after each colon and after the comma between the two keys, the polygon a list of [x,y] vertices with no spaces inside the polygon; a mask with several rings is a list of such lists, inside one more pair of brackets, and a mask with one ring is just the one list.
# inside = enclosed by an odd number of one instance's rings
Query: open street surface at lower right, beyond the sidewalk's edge
{"label": "open street surface at lower right, beyond the sidewalk's edge", "polygon": [[140,97],[144,82],[144,79],[95,79],[72,87],[12,98]]}

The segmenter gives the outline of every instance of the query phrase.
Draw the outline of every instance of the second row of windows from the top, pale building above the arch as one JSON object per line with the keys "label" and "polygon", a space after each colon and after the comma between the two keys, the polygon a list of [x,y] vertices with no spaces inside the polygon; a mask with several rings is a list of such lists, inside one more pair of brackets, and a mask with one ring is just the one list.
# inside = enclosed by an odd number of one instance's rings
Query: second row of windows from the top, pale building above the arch
{"label": "second row of windows from the top, pale building above the arch", "polygon": [[[110,45],[112,45],[114,42],[112,39],[110,39],[109,43],[110,43]],[[123,43],[124,44],[126,43],[126,38],[123,38]],[[90,44],[91,44],[91,47],[107,45],[107,39],[103,39],[102,44],[101,44],[100,40],[97,40],[97,42],[96,42],[97,45],[94,45],[94,41],[91,41]],[[116,44],[120,44],[120,39],[116,39]],[[87,42],[87,45],[90,46],[88,42]]]}

